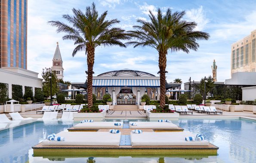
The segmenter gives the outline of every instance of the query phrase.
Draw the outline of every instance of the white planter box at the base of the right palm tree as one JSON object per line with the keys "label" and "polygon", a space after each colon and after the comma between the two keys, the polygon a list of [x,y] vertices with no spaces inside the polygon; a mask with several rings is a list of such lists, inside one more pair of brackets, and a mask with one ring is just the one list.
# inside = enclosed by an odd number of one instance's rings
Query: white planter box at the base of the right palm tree
{"label": "white planter box at the base of the right palm tree", "polygon": [[146,112],[148,120],[179,120],[179,113],[151,113],[150,111]]}

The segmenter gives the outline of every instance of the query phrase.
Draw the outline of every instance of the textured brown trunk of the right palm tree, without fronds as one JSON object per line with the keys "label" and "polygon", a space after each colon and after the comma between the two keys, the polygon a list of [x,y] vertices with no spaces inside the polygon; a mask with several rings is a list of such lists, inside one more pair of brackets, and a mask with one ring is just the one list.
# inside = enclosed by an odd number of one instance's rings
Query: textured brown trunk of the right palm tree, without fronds
{"label": "textured brown trunk of the right palm tree, without fronds", "polygon": [[166,55],[167,52],[159,52],[159,60],[158,60],[158,66],[160,69],[160,108],[164,108],[165,106],[165,69],[166,69]]}

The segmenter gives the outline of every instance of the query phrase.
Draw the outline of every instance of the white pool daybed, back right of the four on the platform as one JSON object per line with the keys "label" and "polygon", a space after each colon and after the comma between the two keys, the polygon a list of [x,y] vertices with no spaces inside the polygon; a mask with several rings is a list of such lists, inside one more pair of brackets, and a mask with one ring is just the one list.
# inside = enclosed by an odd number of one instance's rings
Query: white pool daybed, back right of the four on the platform
{"label": "white pool daybed, back right of the four on the platform", "polygon": [[129,123],[130,129],[178,129],[178,126],[167,122],[134,122],[137,126]]}

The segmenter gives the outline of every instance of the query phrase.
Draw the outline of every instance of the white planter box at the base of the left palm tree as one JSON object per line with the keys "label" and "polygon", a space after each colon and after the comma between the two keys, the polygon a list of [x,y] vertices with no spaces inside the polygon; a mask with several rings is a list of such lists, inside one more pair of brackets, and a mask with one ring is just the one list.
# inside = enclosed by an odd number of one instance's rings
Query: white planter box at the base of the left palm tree
{"label": "white planter box at the base of the left palm tree", "polygon": [[74,120],[95,120],[102,121],[105,119],[106,111],[101,113],[73,113]]}

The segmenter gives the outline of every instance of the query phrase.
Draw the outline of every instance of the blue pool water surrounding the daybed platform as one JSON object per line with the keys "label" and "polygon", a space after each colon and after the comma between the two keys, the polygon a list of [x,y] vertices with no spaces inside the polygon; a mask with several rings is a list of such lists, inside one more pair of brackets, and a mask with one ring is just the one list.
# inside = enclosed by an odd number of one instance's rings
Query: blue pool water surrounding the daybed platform
{"label": "blue pool water surrounding the daybed platform", "polygon": [[73,122],[34,122],[0,131],[0,163],[256,163],[256,122],[248,120],[173,121],[193,133],[201,133],[219,147],[217,156],[185,157],[33,157],[32,146]]}

